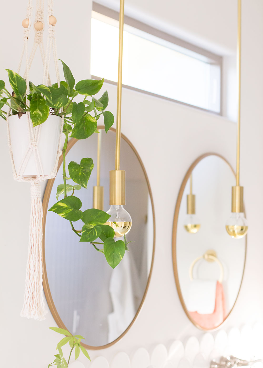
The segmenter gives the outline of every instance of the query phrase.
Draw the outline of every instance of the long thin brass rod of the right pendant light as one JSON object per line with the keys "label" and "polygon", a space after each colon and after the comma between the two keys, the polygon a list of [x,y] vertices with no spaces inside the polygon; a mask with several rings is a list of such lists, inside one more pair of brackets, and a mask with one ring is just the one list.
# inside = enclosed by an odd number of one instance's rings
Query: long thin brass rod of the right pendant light
{"label": "long thin brass rod of the right pendant light", "polygon": [[240,166],[240,110],[241,110],[241,0],[238,0],[238,37],[236,48],[236,71],[238,89],[238,127],[236,145],[236,186],[239,186],[239,166]]}

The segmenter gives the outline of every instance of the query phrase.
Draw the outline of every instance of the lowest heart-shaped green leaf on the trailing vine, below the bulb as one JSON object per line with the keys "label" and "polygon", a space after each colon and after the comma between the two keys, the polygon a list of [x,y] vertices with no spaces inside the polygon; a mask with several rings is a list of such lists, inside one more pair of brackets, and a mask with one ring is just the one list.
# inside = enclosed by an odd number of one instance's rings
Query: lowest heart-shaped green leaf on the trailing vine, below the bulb
{"label": "lowest heart-shaped green leaf on the trailing vine, below the bulb", "polygon": [[114,241],[113,238],[107,238],[103,250],[107,262],[111,268],[115,268],[125,255],[125,244],[122,240]]}

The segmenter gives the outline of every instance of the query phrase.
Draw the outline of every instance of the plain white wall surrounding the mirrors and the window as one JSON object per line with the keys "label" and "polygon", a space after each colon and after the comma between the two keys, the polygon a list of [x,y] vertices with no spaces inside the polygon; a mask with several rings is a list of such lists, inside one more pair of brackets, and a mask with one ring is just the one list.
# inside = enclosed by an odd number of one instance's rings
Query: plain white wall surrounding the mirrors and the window
{"label": "plain white wall surrounding the mirrors and the window", "polygon": [[[234,0],[231,4],[226,0],[167,0],[162,1],[162,6],[157,1],[130,0],[127,3],[137,13],[141,11],[141,17],[151,14],[160,22],[174,22],[178,29],[182,29],[182,34],[187,32],[193,38],[200,37],[207,44],[214,42],[215,47],[219,45],[222,50],[233,50],[235,47]],[[170,11],[171,3],[174,4],[173,12]],[[196,3],[199,3],[197,8],[194,7]],[[219,4],[221,11],[216,7]],[[59,57],[78,76],[86,76],[89,71],[90,5],[90,0],[55,2],[55,15],[60,11],[57,15]],[[15,68],[18,60],[23,4],[18,0],[6,2],[1,11],[4,14],[1,17],[2,33],[8,33],[7,38],[1,39],[2,52],[7,51],[0,60],[0,76],[3,78],[3,68]],[[65,27],[63,32],[59,31],[62,25]],[[262,36],[262,1],[243,0],[241,183],[245,187],[249,220],[248,255],[241,294],[225,328],[262,318],[263,247],[258,230],[262,227],[263,201]],[[116,87],[109,85],[107,88],[109,110],[115,112]],[[232,165],[235,162],[235,124],[225,118],[124,90],[122,122],[122,131],[139,152],[150,180],[157,223],[156,254],[148,294],[136,322],[117,344],[107,350],[91,352],[91,358],[105,355],[109,360],[117,351],[131,353],[139,346],[150,349],[157,342],[168,343],[170,339],[202,334],[187,319],[176,293],[171,259],[173,212],[182,178],[197,156],[214,151],[224,155]],[[13,180],[4,122],[1,122],[0,130],[3,173],[0,182],[1,365],[44,368],[55,354],[58,339],[55,333],[48,330],[55,322],[50,313],[43,322],[28,321],[19,315],[27,260],[29,187]],[[164,220],[165,231],[160,225]],[[12,361],[8,363],[10,357]]]}

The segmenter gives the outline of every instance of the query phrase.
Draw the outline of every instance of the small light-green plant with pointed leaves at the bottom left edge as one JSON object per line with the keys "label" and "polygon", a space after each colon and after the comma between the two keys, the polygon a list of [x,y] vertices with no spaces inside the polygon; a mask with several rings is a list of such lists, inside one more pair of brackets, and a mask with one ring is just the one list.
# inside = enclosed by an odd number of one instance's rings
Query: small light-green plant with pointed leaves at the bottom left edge
{"label": "small light-green plant with pointed leaves at the bottom left edge", "polygon": [[[83,336],[80,336],[80,335],[73,336],[71,335],[69,331],[64,330],[63,328],[58,328],[58,327],[49,327],[49,328],[50,330],[53,330],[57,333],[66,335],[66,337],[60,340],[60,342],[57,344],[57,350],[59,351],[59,354],[54,355],[55,359],[52,363],[48,365],[48,368],[52,367],[52,365],[56,365],[57,368],[67,368],[70,362],[71,354],[73,353],[74,349],[75,349],[75,360],[79,357],[80,350],[85,355],[85,357],[87,357],[90,360],[90,355],[88,355],[87,350],[80,343],[81,339],[85,340]],[[69,344],[69,346],[71,347],[68,360],[66,360],[63,357],[63,351],[62,351],[62,346],[66,344]]]}

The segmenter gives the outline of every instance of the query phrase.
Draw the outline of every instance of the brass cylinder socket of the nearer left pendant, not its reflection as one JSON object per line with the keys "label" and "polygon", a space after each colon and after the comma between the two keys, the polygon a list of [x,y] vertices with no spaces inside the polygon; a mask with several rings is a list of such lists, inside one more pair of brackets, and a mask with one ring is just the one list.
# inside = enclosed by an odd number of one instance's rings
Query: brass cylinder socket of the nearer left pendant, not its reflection
{"label": "brass cylinder socket of the nearer left pendant, not its reflection", "polygon": [[125,170],[110,171],[110,205],[125,205]]}

